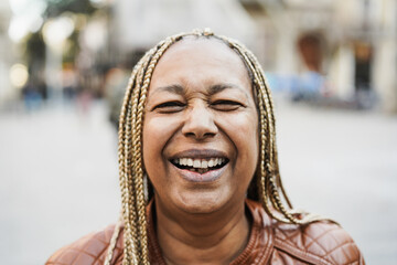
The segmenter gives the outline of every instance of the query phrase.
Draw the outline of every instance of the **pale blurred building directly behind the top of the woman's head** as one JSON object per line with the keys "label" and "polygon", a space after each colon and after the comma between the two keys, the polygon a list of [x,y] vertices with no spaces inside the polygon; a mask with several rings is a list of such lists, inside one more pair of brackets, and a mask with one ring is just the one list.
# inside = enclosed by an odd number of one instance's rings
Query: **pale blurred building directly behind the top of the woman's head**
{"label": "pale blurred building directly behind the top of the woman's head", "polygon": [[128,54],[146,51],[168,35],[211,28],[246,44],[255,41],[255,22],[238,1],[119,0],[112,15],[112,46]]}

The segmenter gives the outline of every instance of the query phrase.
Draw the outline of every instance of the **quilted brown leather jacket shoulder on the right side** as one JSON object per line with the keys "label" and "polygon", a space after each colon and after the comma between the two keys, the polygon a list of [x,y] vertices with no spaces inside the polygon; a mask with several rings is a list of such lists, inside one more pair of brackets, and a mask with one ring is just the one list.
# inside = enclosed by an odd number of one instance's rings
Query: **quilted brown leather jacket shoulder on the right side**
{"label": "quilted brown leather jacket shoulder on the right side", "polygon": [[297,258],[326,265],[364,265],[352,237],[339,224],[319,221],[305,225],[276,223],[275,247]]}

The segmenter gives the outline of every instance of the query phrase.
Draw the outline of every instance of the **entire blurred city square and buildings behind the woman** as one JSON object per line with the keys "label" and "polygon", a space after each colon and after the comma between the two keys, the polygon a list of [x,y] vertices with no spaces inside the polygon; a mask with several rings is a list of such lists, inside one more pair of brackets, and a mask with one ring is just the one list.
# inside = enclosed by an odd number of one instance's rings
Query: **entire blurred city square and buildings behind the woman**
{"label": "entire blurred city square and buildings behind the woman", "polygon": [[397,264],[396,0],[0,1],[2,264],[44,264],[117,220],[129,73],[206,26],[264,66],[294,205],[337,220],[367,264]]}

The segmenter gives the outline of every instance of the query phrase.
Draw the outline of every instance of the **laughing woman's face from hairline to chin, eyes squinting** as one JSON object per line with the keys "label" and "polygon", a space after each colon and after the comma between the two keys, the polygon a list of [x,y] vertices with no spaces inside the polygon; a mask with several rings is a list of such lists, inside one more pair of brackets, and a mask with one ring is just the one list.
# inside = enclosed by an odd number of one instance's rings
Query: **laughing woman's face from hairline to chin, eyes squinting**
{"label": "laughing woman's face from hairline to chin, eyes squinting", "polygon": [[258,161],[258,114],[242,59],[216,40],[183,40],[161,57],[143,121],[158,203],[186,213],[242,205]]}

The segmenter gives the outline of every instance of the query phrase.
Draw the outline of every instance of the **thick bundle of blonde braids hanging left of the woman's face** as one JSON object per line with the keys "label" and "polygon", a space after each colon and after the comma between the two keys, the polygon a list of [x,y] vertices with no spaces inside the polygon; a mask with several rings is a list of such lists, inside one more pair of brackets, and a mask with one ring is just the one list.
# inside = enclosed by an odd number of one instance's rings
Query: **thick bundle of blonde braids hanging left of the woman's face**
{"label": "thick bundle of blonde braids hanging left of the woman's face", "polygon": [[[150,50],[132,71],[119,120],[119,176],[125,223],[124,265],[149,264],[148,236],[141,157],[143,109],[151,75],[165,50],[175,41],[170,38]],[[111,257],[111,255],[108,255]]]}

